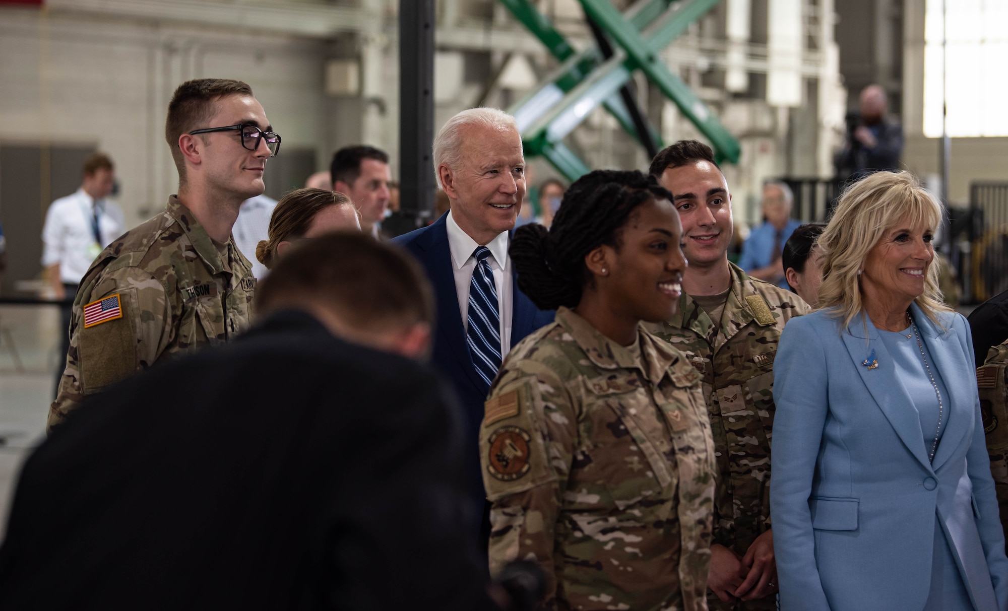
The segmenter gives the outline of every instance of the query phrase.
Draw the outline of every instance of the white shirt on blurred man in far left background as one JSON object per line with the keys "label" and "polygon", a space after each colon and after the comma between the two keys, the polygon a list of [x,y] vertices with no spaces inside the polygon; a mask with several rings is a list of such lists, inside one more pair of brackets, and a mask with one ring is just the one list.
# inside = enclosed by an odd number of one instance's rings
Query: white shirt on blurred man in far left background
{"label": "white shirt on blurred man in far left background", "polygon": [[[98,210],[95,241],[94,214]],[[42,226],[42,266],[59,263],[59,279],[79,284],[102,249],[125,231],[121,208],[102,199],[97,202],[84,189],[52,202]]]}

